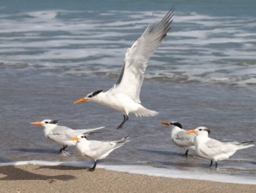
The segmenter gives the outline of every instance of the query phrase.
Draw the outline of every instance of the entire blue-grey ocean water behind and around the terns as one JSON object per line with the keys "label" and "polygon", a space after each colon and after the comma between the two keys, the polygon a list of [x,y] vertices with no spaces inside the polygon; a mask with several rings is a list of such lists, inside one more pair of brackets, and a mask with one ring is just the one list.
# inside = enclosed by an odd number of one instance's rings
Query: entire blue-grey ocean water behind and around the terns
{"label": "entire blue-grey ocean water behind and around the terns", "polygon": [[74,147],[67,149],[70,156],[58,155],[61,146],[30,125],[58,119],[59,125],[73,129],[106,126],[91,139],[131,135],[130,143],[99,167],[256,183],[254,147],[220,161],[217,170],[209,169],[210,161],[193,151],[185,158],[184,150],[170,142],[169,128],[160,124],[176,120],[186,129],[204,125],[221,141],[256,140],[254,1],[175,3],[171,31],[150,59],[141,89],[142,105],[159,116],[130,115],[124,129],[116,130],[122,121],[119,112],[92,103],[73,105],[87,93],[112,87],[127,48],[173,3],[3,1],[0,161],[82,161]]}

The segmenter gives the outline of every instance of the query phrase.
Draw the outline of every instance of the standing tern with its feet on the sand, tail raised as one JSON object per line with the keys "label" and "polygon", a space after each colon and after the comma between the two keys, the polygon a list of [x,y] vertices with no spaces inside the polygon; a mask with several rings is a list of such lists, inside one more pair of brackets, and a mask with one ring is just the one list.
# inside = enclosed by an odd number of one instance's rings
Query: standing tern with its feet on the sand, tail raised
{"label": "standing tern with its feet on the sand, tail raised", "polygon": [[117,141],[96,141],[88,140],[86,135],[78,135],[71,138],[77,140],[76,150],[81,156],[94,160],[94,165],[88,171],[94,171],[97,165],[97,160],[106,158],[111,151],[120,148],[126,142],[130,141],[129,136]]}

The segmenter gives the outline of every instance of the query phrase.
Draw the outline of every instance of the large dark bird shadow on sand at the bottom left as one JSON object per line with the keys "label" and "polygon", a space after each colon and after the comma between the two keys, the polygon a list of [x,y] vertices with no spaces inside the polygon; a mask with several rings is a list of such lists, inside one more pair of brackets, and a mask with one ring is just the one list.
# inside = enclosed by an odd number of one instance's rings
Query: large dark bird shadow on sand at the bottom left
{"label": "large dark bird shadow on sand at the bottom left", "polygon": [[[4,176],[4,177],[2,177]],[[42,175],[42,174],[35,174],[33,172],[29,172],[18,167],[14,166],[1,166],[0,167],[0,181],[3,180],[47,180],[50,183],[54,182],[55,180],[72,180],[76,179],[75,176],[72,175]]]}

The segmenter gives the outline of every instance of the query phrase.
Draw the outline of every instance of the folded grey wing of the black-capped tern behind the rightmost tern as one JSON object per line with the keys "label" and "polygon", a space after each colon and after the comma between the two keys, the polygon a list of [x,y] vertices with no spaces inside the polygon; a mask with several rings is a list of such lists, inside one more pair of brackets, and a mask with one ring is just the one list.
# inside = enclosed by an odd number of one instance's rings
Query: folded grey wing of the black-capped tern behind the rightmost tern
{"label": "folded grey wing of the black-capped tern behind the rightmost tern", "polygon": [[195,134],[184,133],[184,131],[177,133],[173,138],[173,142],[180,147],[194,146]]}

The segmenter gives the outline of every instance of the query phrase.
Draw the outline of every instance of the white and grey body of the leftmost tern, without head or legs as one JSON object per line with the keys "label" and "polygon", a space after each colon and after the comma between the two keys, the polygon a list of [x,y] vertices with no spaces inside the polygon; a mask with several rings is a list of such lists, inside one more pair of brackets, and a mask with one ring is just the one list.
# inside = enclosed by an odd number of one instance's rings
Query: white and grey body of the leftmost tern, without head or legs
{"label": "white and grey body of the leftmost tern, without head or legs", "polygon": [[73,130],[71,128],[67,128],[66,126],[59,126],[56,124],[48,124],[45,126],[43,129],[43,132],[46,136],[46,138],[55,141],[59,144],[62,145],[67,145],[67,146],[72,146],[76,145],[75,140],[71,140],[71,138],[81,135],[84,133],[90,134],[91,131],[95,131],[98,129],[102,129],[103,127],[100,128],[94,128],[94,129],[78,129],[78,130]]}

